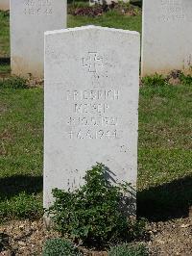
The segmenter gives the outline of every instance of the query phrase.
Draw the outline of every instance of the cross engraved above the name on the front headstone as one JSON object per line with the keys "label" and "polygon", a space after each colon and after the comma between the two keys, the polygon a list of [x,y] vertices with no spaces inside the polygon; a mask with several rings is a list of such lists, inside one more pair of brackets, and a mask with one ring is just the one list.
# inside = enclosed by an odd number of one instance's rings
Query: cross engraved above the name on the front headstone
{"label": "cross engraved above the name on the front headstone", "polygon": [[88,72],[96,73],[98,65],[103,65],[103,58],[97,52],[89,52],[88,57],[83,58],[83,67],[87,67]]}

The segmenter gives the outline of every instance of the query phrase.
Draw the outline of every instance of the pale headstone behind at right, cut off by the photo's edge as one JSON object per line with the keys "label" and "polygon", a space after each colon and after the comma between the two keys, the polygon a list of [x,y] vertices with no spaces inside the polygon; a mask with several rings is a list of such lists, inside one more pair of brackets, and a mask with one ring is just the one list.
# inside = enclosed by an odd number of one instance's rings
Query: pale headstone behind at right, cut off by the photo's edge
{"label": "pale headstone behind at right, cut off by the photo's edge", "polygon": [[191,0],[143,1],[142,76],[190,71],[191,13]]}

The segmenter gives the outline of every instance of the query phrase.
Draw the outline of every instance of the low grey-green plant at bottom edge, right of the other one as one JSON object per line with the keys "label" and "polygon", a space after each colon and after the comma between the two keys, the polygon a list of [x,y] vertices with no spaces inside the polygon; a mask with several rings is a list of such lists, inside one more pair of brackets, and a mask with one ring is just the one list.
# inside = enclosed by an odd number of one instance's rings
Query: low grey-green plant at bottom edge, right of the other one
{"label": "low grey-green plant at bottom edge, right of the other one", "polygon": [[108,252],[108,256],[148,256],[148,250],[142,244],[133,246],[130,244],[122,244],[112,247]]}

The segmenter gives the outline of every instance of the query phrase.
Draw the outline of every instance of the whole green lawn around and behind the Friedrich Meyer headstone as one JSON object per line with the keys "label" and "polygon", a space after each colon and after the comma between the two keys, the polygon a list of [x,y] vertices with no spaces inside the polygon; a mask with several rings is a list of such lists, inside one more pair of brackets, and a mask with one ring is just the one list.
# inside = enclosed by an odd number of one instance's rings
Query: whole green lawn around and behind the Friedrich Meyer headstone
{"label": "whole green lawn around and behind the Friedrich Meyer headstone", "polygon": [[[68,16],[85,24],[141,30],[141,16]],[[0,13],[0,58],[9,56],[9,17]],[[0,59],[1,60],[1,59]],[[8,71],[0,63],[0,74]],[[192,90],[144,86],[139,100],[138,215],[177,218],[192,204]],[[41,215],[43,90],[0,87],[0,219]],[[180,211],[178,211],[180,208]]]}

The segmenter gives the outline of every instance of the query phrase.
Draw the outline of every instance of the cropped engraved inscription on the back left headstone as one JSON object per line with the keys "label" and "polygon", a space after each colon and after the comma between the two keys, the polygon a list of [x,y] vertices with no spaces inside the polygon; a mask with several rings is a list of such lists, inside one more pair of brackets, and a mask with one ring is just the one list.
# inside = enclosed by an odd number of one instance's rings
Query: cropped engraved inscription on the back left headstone
{"label": "cropped engraved inscription on the back left headstone", "polygon": [[26,15],[52,14],[52,0],[24,0],[24,13]]}

